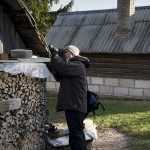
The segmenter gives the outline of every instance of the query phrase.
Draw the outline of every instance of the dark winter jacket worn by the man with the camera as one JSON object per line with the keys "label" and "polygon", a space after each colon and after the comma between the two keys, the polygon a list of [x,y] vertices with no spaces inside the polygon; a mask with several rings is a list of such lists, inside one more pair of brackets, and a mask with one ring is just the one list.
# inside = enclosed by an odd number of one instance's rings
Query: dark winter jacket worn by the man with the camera
{"label": "dark winter jacket worn by the man with the camera", "polygon": [[60,76],[60,88],[56,109],[87,112],[86,68],[89,60],[77,56],[65,62],[59,56],[52,58],[52,63]]}

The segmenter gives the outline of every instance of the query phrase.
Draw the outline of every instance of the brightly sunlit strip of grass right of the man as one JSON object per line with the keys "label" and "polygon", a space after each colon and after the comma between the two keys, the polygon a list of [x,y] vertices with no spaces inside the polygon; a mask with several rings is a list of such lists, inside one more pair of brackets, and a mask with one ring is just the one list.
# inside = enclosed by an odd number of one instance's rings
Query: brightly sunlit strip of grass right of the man
{"label": "brightly sunlit strip of grass right of the man", "polygon": [[112,114],[91,118],[101,127],[112,127],[132,136],[150,137],[150,111],[128,114]]}

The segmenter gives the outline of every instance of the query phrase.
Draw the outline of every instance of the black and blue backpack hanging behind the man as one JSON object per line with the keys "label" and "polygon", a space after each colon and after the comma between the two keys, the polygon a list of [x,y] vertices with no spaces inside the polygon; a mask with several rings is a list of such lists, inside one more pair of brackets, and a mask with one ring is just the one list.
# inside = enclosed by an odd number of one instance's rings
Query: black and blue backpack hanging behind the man
{"label": "black and blue backpack hanging behind the man", "polygon": [[104,106],[99,101],[99,96],[87,89],[87,114],[93,112],[93,115],[95,115],[95,110],[99,108],[99,105],[101,105],[103,111],[105,111]]}

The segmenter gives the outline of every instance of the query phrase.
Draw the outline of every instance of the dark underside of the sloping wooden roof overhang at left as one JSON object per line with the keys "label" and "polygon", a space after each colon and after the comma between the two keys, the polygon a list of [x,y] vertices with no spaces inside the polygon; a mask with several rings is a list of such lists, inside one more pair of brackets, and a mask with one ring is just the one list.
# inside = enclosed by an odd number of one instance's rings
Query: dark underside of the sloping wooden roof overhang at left
{"label": "dark underside of the sloping wooden roof overhang at left", "polygon": [[40,34],[36,22],[22,0],[1,0],[5,12],[12,19],[16,30],[22,38],[27,49],[34,54],[48,57],[48,46]]}

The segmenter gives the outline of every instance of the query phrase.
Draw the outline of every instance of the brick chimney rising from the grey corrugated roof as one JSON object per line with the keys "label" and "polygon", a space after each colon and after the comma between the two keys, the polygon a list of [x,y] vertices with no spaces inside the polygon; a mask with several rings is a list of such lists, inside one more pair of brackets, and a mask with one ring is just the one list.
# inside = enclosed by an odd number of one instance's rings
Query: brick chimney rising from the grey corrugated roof
{"label": "brick chimney rising from the grey corrugated roof", "polygon": [[117,3],[117,34],[118,39],[132,36],[134,27],[135,0],[118,0]]}

